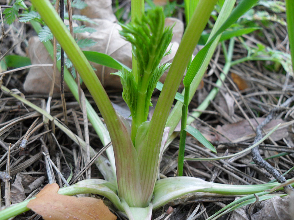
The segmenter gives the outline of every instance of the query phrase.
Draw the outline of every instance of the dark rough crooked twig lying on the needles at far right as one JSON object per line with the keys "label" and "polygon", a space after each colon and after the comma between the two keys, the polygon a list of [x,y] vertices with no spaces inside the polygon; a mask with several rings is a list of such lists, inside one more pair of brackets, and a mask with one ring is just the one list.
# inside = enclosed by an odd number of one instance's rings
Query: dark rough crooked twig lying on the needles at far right
{"label": "dark rough crooked twig lying on the needles at far right", "polygon": [[[254,139],[254,143],[257,143],[262,138],[262,128],[269,123],[276,115],[284,111],[284,107],[288,106],[292,101],[294,101],[294,96],[287,99],[280,107],[274,108],[270,111],[268,116],[264,119],[263,122],[261,122],[257,128],[256,128],[256,137]],[[259,153],[259,145],[255,148],[251,149],[251,155],[252,160],[254,163],[256,163],[258,166],[264,168],[266,171],[268,171],[279,183],[286,182],[286,178],[282,176],[278,170],[276,170],[272,165],[270,165],[267,161],[263,160]],[[292,189],[293,187],[291,185],[287,185],[286,188]]]}

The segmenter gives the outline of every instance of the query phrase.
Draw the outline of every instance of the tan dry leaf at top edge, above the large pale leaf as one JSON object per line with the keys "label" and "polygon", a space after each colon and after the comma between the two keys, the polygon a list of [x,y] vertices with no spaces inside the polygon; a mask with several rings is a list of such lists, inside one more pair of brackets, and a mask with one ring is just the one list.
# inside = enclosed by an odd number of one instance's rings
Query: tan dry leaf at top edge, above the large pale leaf
{"label": "tan dry leaf at top edge, above the large pale leaf", "polygon": [[88,5],[81,10],[81,15],[86,15],[88,18],[101,18],[108,21],[116,22],[116,16],[112,11],[111,0],[84,0]]}

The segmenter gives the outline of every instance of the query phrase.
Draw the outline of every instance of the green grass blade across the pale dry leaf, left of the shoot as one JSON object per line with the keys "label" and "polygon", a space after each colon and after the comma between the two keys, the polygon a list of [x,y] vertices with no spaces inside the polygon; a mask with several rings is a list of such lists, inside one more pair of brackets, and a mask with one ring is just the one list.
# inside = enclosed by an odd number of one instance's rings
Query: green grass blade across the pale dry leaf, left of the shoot
{"label": "green grass blade across the pale dry leaf, left of the shoot", "polygon": [[83,53],[86,56],[86,58],[91,62],[95,62],[116,70],[121,70],[122,67],[124,67],[126,70],[131,70],[130,68],[123,65],[121,62],[113,59],[111,56],[107,54],[99,53],[96,51],[83,51]]}

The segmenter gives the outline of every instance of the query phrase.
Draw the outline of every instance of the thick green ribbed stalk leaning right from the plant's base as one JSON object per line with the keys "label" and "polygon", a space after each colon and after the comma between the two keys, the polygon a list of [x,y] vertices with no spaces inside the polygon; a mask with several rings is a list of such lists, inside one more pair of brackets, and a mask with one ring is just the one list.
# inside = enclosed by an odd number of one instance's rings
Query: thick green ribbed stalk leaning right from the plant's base
{"label": "thick green ribbed stalk leaning right from the plant's base", "polygon": [[150,201],[153,194],[154,184],[157,178],[156,174],[159,167],[161,139],[173,103],[173,98],[180,85],[189,57],[193,53],[216,2],[216,0],[199,1],[191,22],[188,24],[183,35],[178,51],[163,84],[163,89],[158,98],[150,122],[150,128],[146,136],[146,146],[148,146],[149,149],[142,149],[141,152],[141,155],[144,155],[144,157],[141,160],[140,173],[143,174],[142,188],[146,189],[146,201]]}

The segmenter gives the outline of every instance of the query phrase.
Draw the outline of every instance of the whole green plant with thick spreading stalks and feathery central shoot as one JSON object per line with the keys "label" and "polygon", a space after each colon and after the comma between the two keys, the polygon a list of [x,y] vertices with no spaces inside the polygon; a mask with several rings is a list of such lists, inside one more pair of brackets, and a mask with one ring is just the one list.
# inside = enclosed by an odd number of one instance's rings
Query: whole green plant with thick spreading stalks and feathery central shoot
{"label": "whole green plant with thick spreading stalks and feathery central shoot", "polygon": [[[171,65],[160,65],[160,60],[166,54],[171,40],[171,28],[164,28],[162,9],[156,8],[148,12],[146,16],[135,18],[131,24],[122,25],[121,35],[132,43],[137,67],[135,70],[122,68],[114,74],[121,77],[123,99],[131,111],[131,126],[113,109],[101,82],[51,3],[48,0],[31,0],[31,2],[64,48],[97,104],[109,131],[115,157],[115,164],[112,166],[116,167],[114,174],[116,182],[100,179],[83,180],[72,186],[61,188],[60,194],[100,194],[110,199],[118,210],[124,211],[129,219],[149,220],[152,209],[187,193],[201,191],[251,194],[278,185],[277,183],[251,186],[224,185],[194,177],[168,177],[157,180],[163,146],[168,137],[169,128],[166,128],[166,121],[171,105],[189,58],[217,0],[199,1]],[[248,8],[250,8],[255,2],[256,0],[241,1],[243,5],[239,7],[239,10],[245,8],[244,5],[248,6],[249,3]],[[231,11],[234,4],[234,1],[226,0],[223,11]],[[235,11],[232,14],[240,16],[242,13]],[[223,29],[230,26],[238,16],[224,18],[224,20],[227,19],[227,23]],[[151,95],[158,79],[169,66],[170,70],[152,119],[147,121]],[[28,201],[1,211],[0,220],[27,211]]]}

